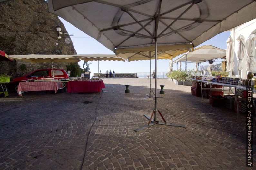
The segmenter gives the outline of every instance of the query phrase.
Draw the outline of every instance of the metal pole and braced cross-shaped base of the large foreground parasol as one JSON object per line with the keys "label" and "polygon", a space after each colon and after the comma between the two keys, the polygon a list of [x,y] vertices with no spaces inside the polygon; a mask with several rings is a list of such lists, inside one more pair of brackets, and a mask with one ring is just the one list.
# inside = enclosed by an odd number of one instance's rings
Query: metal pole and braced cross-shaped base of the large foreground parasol
{"label": "metal pole and braced cross-shaped base of the large foreground parasol", "polygon": [[[157,75],[157,26],[158,26],[158,20],[159,20],[159,16],[160,16],[160,9],[161,9],[161,2],[162,0],[159,1],[159,5],[158,5],[158,11],[156,12],[156,17],[155,17],[155,35],[154,35],[154,39],[155,39],[155,75]],[[155,125],[155,124],[160,124],[160,125],[169,125],[169,126],[178,126],[178,127],[185,127],[184,125],[178,125],[178,124],[171,124],[171,123],[167,123],[164,119],[164,117],[162,116],[161,112],[159,110],[157,110],[157,76],[155,76],[155,107],[154,107],[154,110],[151,114],[151,117],[149,117],[148,115],[144,115],[147,119],[149,119],[149,122],[147,125],[144,125],[138,129],[135,129],[134,131],[138,132],[140,130],[143,130],[143,129],[146,129],[152,125]],[[162,117],[162,120],[164,121],[163,122],[159,122],[157,121],[156,119],[156,113],[160,114],[160,116]],[[154,114],[154,120],[152,120],[152,116]]]}

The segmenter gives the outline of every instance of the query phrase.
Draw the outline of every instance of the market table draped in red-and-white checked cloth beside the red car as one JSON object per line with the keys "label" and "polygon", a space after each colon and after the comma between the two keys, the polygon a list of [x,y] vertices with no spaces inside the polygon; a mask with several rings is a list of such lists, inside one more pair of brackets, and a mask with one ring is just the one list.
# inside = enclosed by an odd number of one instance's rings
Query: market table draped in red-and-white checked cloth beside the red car
{"label": "market table draped in red-and-white checked cloth beside the red car", "polygon": [[19,96],[22,96],[21,93],[25,91],[54,90],[57,93],[60,88],[62,88],[61,82],[20,82],[17,92]]}

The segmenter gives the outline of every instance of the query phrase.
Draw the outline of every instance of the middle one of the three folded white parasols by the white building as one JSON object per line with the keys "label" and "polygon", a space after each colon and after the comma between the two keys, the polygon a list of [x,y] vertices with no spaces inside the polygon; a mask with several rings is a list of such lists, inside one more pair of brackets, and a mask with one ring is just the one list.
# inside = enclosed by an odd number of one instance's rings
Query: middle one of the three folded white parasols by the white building
{"label": "middle one of the three folded white parasols by the white building", "polygon": [[238,51],[237,51],[238,64],[237,65],[238,65],[238,70],[241,71],[243,69],[242,60],[245,54],[244,36],[240,34],[236,40],[238,41]]}

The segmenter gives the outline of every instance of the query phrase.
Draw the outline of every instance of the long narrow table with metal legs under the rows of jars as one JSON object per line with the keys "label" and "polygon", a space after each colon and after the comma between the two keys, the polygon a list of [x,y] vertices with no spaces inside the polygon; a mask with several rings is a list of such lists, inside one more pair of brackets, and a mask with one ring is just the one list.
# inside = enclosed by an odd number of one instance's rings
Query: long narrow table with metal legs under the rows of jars
{"label": "long narrow table with metal legs under the rows of jars", "polygon": [[[200,80],[200,79],[191,79],[191,81],[199,82],[199,84],[201,86],[201,96],[202,96],[202,98],[203,98],[203,95],[202,95],[203,85],[202,85],[202,83],[210,84],[210,94],[211,94],[211,91],[212,91],[212,85],[222,85],[223,86],[223,91],[224,91],[224,86],[229,87],[230,89],[233,87],[235,89],[234,94],[235,94],[235,103],[236,103],[236,107],[237,107],[237,115],[239,115],[238,100],[242,99],[242,98],[238,98],[237,89],[246,90],[246,86],[232,85],[232,84],[213,82],[213,81],[207,81],[207,80]],[[253,92],[256,92],[256,89],[253,88]]]}

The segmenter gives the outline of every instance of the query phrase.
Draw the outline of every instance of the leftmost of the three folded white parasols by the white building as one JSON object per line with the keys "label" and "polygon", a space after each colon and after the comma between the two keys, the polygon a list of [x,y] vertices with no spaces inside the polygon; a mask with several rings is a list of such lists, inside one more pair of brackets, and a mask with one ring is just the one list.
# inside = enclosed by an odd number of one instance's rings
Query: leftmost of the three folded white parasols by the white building
{"label": "leftmost of the three folded white parasols by the white building", "polygon": [[234,68],[234,50],[233,50],[233,40],[232,37],[229,37],[226,41],[227,43],[227,51],[226,51],[226,57],[227,57],[227,71],[230,71],[229,76],[232,76],[232,70]]}

